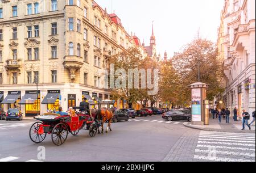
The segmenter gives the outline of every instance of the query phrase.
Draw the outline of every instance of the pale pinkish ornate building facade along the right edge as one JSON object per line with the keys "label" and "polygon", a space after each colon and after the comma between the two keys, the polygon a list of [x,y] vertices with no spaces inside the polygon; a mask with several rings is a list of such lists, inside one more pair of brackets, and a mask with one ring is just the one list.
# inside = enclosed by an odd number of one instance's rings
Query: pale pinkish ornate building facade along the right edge
{"label": "pale pinkish ornate building facade along the right edge", "polygon": [[224,61],[225,107],[255,111],[255,1],[226,0],[218,49]]}

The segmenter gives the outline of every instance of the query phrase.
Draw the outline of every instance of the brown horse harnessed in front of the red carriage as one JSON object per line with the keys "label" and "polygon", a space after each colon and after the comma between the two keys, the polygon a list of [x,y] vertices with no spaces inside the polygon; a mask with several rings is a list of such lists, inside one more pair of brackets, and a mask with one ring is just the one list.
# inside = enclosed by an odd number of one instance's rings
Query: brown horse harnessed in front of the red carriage
{"label": "brown horse harnessed in front of the red carriage", "polygon": [[[108,126],[106,129],[106,133],[108,133],[108,130],[110,130],[110,132],[112,131],[111,129],[111,121],[113,119],[113,110],[112,109],[98,109],[96,111],[96,119],[98,121],[101,121],[101,133],[103,133],[104,131],[104,123],[106,123],[106,121],[108,121]],[[98,129],[98,133],[100,134],[100,129]]]}

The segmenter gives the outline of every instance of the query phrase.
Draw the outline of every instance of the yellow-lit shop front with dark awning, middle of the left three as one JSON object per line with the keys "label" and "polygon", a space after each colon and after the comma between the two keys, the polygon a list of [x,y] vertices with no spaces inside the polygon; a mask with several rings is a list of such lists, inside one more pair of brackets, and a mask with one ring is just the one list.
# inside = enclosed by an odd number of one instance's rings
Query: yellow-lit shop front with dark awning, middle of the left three
{"label": "yellow-lit shop front with dark awning, middle of the left three", "polygon": [[25,91],[19,104],[25,106],[25,116],[40,115],[40,91]]}

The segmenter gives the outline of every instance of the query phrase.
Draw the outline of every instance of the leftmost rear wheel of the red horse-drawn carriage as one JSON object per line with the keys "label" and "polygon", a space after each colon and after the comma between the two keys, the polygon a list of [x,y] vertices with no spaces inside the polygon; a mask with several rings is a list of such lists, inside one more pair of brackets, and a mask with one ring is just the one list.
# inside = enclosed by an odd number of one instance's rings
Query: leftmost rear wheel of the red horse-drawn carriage
{"label": "leftmost rear wheel of the red horse-drawn carriage", "polygon": [[44,141],[44,139],[46,138],[46,134],[47,133],[43,133],[43,134],[38,134],[38,130],[39,130],[39,125],[43,124],[41,122],[36,122],[34,123],[31,128],[30,128],[30,140],[35,142],[36,144],[39,144],[41,142]]}

